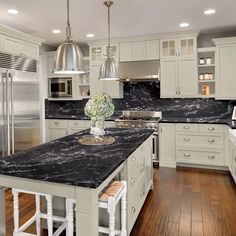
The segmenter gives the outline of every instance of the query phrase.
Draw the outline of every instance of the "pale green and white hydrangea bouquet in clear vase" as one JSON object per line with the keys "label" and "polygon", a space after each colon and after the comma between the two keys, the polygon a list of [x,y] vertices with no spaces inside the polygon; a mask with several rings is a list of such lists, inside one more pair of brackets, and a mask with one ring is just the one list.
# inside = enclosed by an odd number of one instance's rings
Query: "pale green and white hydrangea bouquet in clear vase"
{"label": "pale green and white hydrangea bouquet in clear vase", "polygon": [[101,93],[89,99],[85,105],[85,115],[91,118],[90,134],[101,136],[105,134],[104,123],[105,117],[109,117],[114,113],[114,105],[111,96]]}

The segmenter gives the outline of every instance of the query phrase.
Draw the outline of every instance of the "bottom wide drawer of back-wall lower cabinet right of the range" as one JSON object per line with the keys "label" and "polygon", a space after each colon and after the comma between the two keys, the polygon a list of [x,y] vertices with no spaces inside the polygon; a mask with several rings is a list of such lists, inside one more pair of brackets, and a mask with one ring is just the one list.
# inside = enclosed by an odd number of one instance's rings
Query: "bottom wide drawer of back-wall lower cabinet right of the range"
{"label": "bottom wide drawer of back-wall lower cabinet right of the range", "polygon": [[177,150],[177,162],[224,166],[223,151]]}

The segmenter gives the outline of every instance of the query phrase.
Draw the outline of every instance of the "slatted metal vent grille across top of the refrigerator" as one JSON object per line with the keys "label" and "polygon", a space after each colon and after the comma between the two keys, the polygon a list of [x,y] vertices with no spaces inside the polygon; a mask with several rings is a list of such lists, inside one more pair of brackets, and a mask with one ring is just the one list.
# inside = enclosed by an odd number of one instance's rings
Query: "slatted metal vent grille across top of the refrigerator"
{"label": "slatted metal vent grille across top of the refrigerator", "polygon": [[0,68],[23,72],[37,72],[37,60],[0,52]]}

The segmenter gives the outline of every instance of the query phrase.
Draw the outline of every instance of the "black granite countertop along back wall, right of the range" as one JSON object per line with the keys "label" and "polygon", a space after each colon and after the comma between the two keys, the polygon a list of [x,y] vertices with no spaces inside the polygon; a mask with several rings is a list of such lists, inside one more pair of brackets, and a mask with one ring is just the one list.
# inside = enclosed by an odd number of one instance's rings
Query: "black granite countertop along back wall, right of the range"
{"label": "black granite countertop along back wall, right of the range", "polygon": [[225,124],[231,129],[236,129],[236,121],[232,121],[227,118],[216,118],[216,117],[162,117],[161,123],[199,123],[199,124]]}

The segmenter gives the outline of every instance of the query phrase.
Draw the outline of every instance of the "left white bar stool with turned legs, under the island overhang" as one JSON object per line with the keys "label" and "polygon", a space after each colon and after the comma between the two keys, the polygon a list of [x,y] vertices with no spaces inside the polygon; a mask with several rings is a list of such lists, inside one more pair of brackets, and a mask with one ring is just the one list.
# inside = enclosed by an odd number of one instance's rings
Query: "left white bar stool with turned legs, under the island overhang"
{"label": "left white bar stool with turned legs, under the island overhang", "polygon": [[[36,211],[34,216],[32,216],[27,222],[25,222],[21,227],[19,226],[19,193],[27,193],[35,195]],[[52,195],[26,191],[22,189],[12,189],[13,194],[13,208],[14,208],[14,232],[13,236],[40,236],[41,230],[41,219],[47,220],[48,225],[48,236],[59,236],[63,230],[66,229],[66,235],[69,234],[71,227],[71,216],[72,216],[72,226],[73,226],[73,202],[70,199],[66,200],[66,217],[54,216],[52,209]],[[40,211],[40,197],[43,196],[47,201],[47,213],[41,213]],[[24,231],[36,221],[36,234],[25,233]],[[53,222],[62,223],[61,226],[53,233]],[[70,226],[70,227],[69,227]]]}

